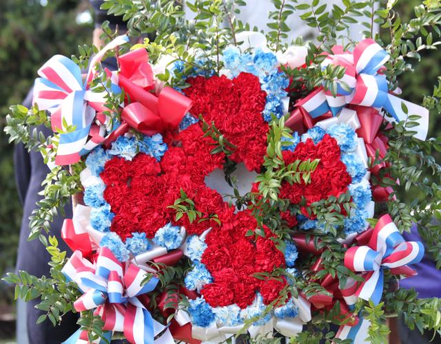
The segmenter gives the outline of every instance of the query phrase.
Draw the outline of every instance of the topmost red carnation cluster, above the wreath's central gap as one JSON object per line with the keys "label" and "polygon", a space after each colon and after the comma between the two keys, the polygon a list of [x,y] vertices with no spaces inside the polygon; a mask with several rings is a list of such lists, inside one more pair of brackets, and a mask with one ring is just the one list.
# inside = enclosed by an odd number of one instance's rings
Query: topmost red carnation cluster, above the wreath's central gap
{"label": "topmost red carnation cluster, above the wreath's central gap", "polygon": [[260,171],[267,150],[267,122],[263,120],[267,94],[260,89],[257,76],[240,73],[230,80],[226,76],[189,78],[191,85],[184,92],[193,100],[190,110],[202,114],[237,149],[231,155],[234,162],[244,162],[249,171]]}

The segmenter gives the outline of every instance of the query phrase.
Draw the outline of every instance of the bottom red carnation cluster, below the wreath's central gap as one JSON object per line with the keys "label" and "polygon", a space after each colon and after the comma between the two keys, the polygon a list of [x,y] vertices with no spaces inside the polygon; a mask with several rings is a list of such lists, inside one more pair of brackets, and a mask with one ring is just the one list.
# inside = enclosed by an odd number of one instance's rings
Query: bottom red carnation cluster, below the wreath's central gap
{"label": "bottom red carnation cluster, below the wreath's central gap", "polygon": [[274,301],[286,282],[274,283],[274,279],[261,280],[256,272],[272,272],[285,267],[285,257],[276,248],[271,237],[274,234],[265,228],[265,237],[246,236],[247,230],[257,228],[256,219],[249,211],[232,213],[229,208],[222,226],[213,228],[207,235],[207,248],[202,263],[207,266],[214,281],[201,290],[203,297],[212,307],[236,303],[246,308],[260,291],[266,304]]}

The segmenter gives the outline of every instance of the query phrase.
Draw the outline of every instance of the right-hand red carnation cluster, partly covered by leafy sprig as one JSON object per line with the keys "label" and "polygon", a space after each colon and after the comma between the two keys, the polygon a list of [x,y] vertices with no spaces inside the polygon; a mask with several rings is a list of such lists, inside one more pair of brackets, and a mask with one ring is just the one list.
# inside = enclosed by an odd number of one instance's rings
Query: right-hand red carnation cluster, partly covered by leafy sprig
{"label": "right-hand red carnation cluster, partly covered by leafy sprig", "polygon": [[[306,142],[300,142],[294,151],[283,151],[283,159],[285,164],[291,164],[295,160],[320,159],[317,168],[311,173],[309,184],[303,181],[301,184],[291,185],[288,182],[282,184],[280,197],[289,200],[292,204],[299,204],[302,197],[305,197],[306,206],[310,206],[311,203],[331,195],[338,196],[345,193],[351,184],[351,176],[340,160],[340,147],[328,134],[318,144],[314,144],[309,138]],[[291,219],[285,216],[289,222]]]}

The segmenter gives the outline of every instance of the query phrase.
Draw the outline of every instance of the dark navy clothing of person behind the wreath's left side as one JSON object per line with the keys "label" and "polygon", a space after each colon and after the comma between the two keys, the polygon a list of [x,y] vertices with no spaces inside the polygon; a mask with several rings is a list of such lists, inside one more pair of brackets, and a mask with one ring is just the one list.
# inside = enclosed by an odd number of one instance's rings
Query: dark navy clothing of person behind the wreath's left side
{"label": "dark navy clothing of person behind the wreath's left side", "polygon": [[[26,97],[23,105],[31,107],[32,91]],[[52,131],[45,127],[39,127],[45,136],[51,135]],[[28,241],[29,231],[29,217],[32,211],[37,208],[36,202],[41,200],[42,196],[38,195],[39,191],[43,189],[41,182],[45,180],[49,172],[48,166],[43,162],[41,153],[31,151],[30,153],[25,149],[23,144],[18,144],[14,151],[14,166],[15,178],[19,197],[23,203],[23,219],[20,228],[19,250],[17,255],[17,270],[28,271],[31,275],[41,277],[50,275],[48,261],[50,255],[45,250],[43,244],[39,239]],[[72,206],[68,204],[65,206],[66,217],[72,217]],[[57,216],[52,222],[50,235],[55,235],[59,242],[60,250],[67,250],[68,256],[72,251],[68,248],[65,242],[61,239],[61,226],[63,225],[63,217]],[[30,344],[59,344],[65,341],[74,333],[79,325],[76,325],[78,314],[72,312],[63,316],[63,321],[60,326],[53,327],[50,321],[44,321],[37,325],[37,319],[45,312],[37,310],[35,305],[40,302],[40,299],[34,299],[26,304],[26,324],[28,327],[28,339]]]}

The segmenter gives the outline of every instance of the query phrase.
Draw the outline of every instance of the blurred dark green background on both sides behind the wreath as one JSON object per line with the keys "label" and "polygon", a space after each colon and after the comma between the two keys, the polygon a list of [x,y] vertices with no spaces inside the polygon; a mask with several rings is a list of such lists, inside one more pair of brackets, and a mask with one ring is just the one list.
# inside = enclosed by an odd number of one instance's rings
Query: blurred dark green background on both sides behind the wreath
{"label": "blurred dark green background on both sides behind the wreath", "polygon": [[[413,17],[418,0],[400,0],[402,19]],[[21,103],[37,69],[54,54],[76,54],[79,43],[92,39],[92,15],[87,0],[0,0],[0,274],[14,269],[21,204],[14,183],[13,149],[3,133],[4,114]],[[387,42],[387,36],[384,37]],[[420,103],[441,75],[441,52],[426,52],[416,70],[401,78],[402,97]],[[431,118],[431,136],[441,129]],[[0,315],[10,311],[10,290],[0,283]],[[0,319],[1,321],[1,319]],[[0,334],[1,336],[1,334]]]}

